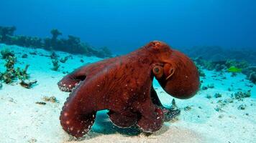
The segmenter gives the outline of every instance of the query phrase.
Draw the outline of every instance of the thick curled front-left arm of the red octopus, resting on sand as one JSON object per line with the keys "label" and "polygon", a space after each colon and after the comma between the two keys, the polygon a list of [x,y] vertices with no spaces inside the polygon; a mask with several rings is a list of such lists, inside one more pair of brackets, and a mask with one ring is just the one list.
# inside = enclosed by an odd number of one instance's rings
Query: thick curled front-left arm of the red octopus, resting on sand
{"label": "thick curled front-left arm of the red octopus, resting on sand", "polygon": [[79,100],[81,95],[85,94],[85,92],[81,91],[81,87],[85,84],[84,82],[70,94],[60,113],[61,126],[65,132],[76,138],[83,137],[83,134],[90,131],[96,117],[93,102],[88,104],[86,100],[85,104],[85,102]]}

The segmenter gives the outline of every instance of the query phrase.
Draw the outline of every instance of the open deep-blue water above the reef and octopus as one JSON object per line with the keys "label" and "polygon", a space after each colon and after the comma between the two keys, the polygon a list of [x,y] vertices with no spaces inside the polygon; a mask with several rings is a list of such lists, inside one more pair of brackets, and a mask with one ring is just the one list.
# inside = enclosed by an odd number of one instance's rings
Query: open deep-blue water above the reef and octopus
{"label": "open deep-blue water above the reef and octopus", "polygon": [[56,28],[121,54],[155,39],[179,48],[254,48],[255,8],[254,0],[1,0],[0,25],[41,37]]}

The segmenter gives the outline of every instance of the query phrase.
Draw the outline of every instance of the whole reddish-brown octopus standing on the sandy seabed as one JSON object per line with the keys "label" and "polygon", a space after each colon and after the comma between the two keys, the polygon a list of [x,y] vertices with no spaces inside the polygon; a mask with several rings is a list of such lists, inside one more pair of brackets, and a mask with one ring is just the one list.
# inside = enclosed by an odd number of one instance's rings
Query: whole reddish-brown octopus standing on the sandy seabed
{"label": "whole reddish-brown octopus standing on the sandy seabed", "polygon": [[73,137],[83,137],[93,126],[96,112],[107,109],[117,127],[156,132],[180,110],[161,104],[152,85],[154,78],[178,99],[193,97],[200,84],[188,56],[162,41],[151,41],[127,55],[81,66],[63,77],[58,87],[71,93],[60,113],[61,126]]}

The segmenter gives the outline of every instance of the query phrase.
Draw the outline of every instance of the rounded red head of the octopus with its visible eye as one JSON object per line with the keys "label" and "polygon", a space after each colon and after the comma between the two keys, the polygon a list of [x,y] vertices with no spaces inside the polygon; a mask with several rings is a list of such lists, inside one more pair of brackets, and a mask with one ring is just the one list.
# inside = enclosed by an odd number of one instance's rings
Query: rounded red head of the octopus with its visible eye
{"label": "rounded red head of the octopus with its visible eye", "polygon": [[179,99],[196,94],[200,86],[198,70],[188,56],[161,41],[152,41],[145,47],[155,58],[152,74],[165,92]]}

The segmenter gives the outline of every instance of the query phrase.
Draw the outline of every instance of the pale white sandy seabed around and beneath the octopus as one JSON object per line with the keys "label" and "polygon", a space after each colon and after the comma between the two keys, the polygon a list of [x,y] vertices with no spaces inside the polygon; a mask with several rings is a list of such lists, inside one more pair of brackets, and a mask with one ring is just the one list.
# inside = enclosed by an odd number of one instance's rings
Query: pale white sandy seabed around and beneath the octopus
{"label": "pale white sandy seabed around and beneath the octopus", "polygon": [[[0,44],[0,50],[9,47],[14,50],[18,64],[24,68],[30,64],[28,73],[30,80],[37,79],[37,85],[32,89],[24,89],[18,82],[3,84],[0,89],[0,142],[78,142],[70,141],[70,137],[60,127],[60,110],[68,93],[60,92],[57,82],[65,75],[63,71],[73,71],[78,66],[88,62],[99,61],[96,57],[73,55],[65,64],[60,63],[60,71],[52,71],[52,62],[49,51],[42,49],[27,49],[19,46],[5,46]],[[37,51],[37,55],[29,52]],[[22,59],[22,54],[28,54],[27,59]],[[57,52],[60,57],[68,56],[63,52]],[[81,59],[85,62],[81,63]],[[4,71],[4,60],[0,59],[0,71]],[[145,134],[136,134],[134,129],[118,129],[113,127],[106,115],[100,112],[96,117],[96,124],[83,141],[79,142],[256,142],[256,87],[238,74],[219,81],[221,77],[214,76],[213,71],[206,71],[206,79],[203,85],[214,84],[214,89],[207,89],[196,94],[196,97],[187,100],[176,99],[178,107],[182,109],[177,121],[165,122],[160,131],[147,137]],[[244,79],[244,81],[242,81]],[[163,104],[170,106],[171,99],[163,89],[154,82],[155,88]],[[232,91],[227,89],[232,87]],[[216,112],[219,99],[228,99],[232,93],[252,90],[252,97],[243,101],[234,100],[226,104],[223,112]],[[215,93],[222,94],[216,99]],[[207,99],[206,95],[211,95]],[[42,97],[54,96],[58,103],[47,102],[45,105],[35,104],[44,102]],[[244,110],[237,107],[246,104]],[[191,106],[191,110],[184,111],[184,107]],[[248,115],[247,115],[248,114]]]}

